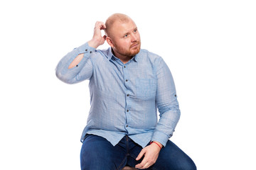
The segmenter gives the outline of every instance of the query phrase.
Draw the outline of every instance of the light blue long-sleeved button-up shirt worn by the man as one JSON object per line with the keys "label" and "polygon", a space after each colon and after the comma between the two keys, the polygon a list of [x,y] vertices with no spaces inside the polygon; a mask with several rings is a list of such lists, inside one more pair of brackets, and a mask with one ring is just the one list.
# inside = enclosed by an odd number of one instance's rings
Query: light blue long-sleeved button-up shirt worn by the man
{"label": "light blue long-sleeved button-up shirt worn by the man", "polygon": [[[68,69],[82,53],[80,63]],[[55,71],[68,84],[90,80],[91,107],[81,142],[86,134],[93,134],[117,145],[128,135],[142,147],[150,141],[165,146],[173,135],[180,110],[174,79],[158,55],[140,50],[123,64],[111,48],[96,50],[85,43],[65,55]]]}

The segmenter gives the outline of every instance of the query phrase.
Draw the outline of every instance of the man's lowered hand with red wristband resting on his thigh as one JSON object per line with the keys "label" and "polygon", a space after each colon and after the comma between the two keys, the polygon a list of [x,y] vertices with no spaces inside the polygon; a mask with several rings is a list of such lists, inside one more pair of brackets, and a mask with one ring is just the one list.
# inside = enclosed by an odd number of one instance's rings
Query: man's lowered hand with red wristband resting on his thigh
{"label": "man's lowered hand with red wristband resting on his thigh", "polygon": [[[159,142],[157,142],[157,144],[159,144],[159,146],[162,147],[162,145]],[[139,153],[136,160],[139,161],[139,159],[141,159],[143,155],[144,155],[144,159],[140,164],[137,164],[135,168],[147,169],[149,168],[149,166],[156,163],[156,160],[159,157],[159,152],[161,150],[159,146],[156,145],[155,143],[152,143],[151,145],[144,147],[144,149],[142,149],[142,151]]]}

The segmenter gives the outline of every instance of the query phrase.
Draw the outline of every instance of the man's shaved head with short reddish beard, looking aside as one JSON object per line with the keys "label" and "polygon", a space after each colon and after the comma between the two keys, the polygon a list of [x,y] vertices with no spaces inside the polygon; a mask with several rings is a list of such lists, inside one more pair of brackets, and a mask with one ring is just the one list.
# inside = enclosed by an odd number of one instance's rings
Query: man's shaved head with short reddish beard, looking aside
{"label": "man's shaved head with short reddish beard, looking aside", "polygon": [[137,26],[129,16],[114,13],[105,23],[107,43],[112,47],[114,54],[125,57],[137,55],[141,42]]}

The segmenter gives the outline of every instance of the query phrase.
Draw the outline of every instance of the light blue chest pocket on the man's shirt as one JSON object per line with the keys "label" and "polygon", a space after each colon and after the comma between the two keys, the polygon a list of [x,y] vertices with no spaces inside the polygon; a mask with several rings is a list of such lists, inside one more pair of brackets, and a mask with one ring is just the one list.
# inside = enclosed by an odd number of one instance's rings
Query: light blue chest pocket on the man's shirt
{"label": "light blue chest pocket on the man's shirt", "polygon": [[155,79],[136,79],[137,98],[149,100],[156,97]]}

